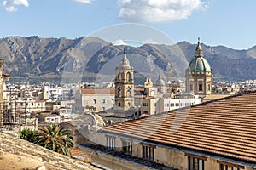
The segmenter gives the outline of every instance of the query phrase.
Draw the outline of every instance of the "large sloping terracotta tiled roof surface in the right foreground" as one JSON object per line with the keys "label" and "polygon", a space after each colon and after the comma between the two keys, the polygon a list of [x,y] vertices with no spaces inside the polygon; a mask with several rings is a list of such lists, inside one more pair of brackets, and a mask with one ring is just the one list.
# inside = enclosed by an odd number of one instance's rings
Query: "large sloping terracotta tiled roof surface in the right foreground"
{"label": "large sloping terracotta tiled roof surface in the right foreground", "polygon": [[256,162],[256,93],[105,127],[103,131]]}

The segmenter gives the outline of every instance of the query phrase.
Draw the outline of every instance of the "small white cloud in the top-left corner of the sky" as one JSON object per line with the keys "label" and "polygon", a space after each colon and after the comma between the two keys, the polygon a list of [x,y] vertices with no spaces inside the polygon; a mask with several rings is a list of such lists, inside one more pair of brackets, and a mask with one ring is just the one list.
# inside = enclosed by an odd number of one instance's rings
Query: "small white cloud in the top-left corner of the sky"
{"label": "small white cloud in the top-left corner of the sky", "polygon": [[3,0],[3,7],[9,13],[16,12],[18,6],[29,7],[28,0]]}

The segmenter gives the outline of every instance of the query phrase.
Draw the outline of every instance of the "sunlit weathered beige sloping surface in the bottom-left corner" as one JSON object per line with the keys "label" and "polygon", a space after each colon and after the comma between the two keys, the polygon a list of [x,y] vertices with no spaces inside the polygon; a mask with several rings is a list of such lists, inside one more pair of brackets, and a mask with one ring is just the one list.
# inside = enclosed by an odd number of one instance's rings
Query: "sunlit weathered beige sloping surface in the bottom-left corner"
{"label": "sunlit weathered beige sloping surface in the bottom-left corner", "polygon": [[63,156],[51,150],[0,132],[0,169],[98,169],[89,163]]}

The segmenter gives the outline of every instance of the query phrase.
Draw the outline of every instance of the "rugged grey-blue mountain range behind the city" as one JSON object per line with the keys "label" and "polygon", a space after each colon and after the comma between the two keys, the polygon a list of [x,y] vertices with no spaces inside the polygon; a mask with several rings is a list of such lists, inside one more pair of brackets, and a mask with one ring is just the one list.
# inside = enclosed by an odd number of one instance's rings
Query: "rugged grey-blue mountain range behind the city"
{"label": "rugged grey-blue mountain range behind the city", "polygon": [[[245,50],[201,46],[214,80],[256,79],[256,46]],[[145,77],[156,80],[159,74],[166,80],[183,78],[195,47],[189,42],[132,47],[113,45],[98,37],[5,37],[0,39],[0,58],[13,80],[112,82],[126,48],[136,78],[143,83]]]}

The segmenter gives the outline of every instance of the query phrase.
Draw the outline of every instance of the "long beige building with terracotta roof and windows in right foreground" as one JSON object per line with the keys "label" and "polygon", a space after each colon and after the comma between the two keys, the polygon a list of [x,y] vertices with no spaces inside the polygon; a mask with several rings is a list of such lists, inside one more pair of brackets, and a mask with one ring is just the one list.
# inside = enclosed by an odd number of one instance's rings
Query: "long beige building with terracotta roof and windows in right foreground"
{"label": "long beige building with terracotta roof and windows in right foreground", "polygon": [[[104,127],[94,141],[120,155],[176,169],[253,170],[255,110],[256,93],[242,94]],[[102,161],[107,167],[113,163]],[[131,169],[124,165],[119,166]]]}

